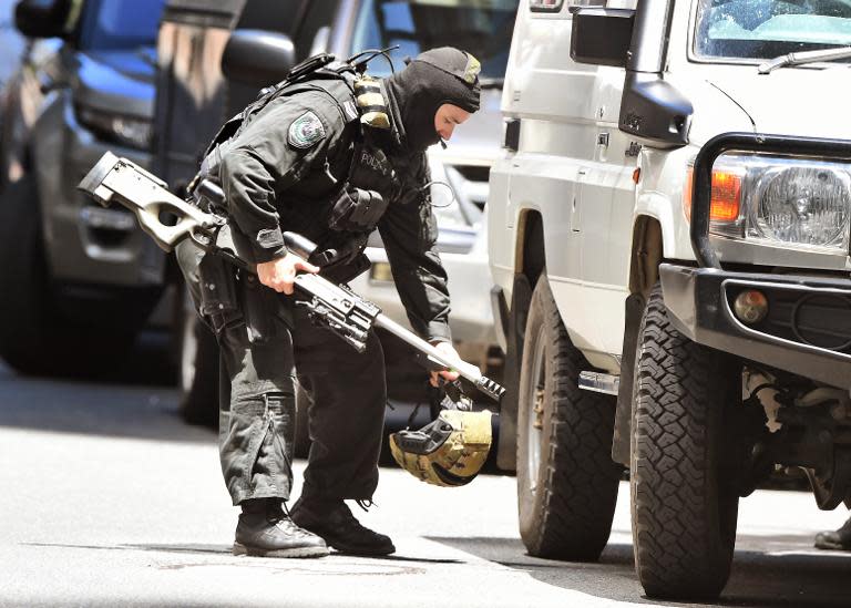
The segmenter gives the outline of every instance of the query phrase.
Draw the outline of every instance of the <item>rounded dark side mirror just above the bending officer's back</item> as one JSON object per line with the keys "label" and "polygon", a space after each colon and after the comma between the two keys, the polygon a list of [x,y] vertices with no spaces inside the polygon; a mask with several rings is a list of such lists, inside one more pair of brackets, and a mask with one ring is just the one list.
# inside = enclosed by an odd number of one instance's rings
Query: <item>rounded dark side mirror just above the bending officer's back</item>
{"label": "rounded dark side mirror just above the bending officer's back", "polygon": [[296,48],[286,34],[265,30],[234,30],[222,55],[222,73],[250,86],[284,80],[296,63]]}

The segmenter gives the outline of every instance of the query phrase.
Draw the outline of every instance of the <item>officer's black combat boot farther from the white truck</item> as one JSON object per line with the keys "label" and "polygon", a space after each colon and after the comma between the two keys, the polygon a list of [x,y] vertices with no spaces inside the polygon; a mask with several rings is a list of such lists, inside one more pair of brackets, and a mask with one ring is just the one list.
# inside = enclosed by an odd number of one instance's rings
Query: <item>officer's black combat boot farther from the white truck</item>
{"label": "officer's black combat boot farther from the white truck", "polygon": [[258,498],[239,503],[234,555],[255,557],[324,557],[325,540],[301,529],[284,513],[281,502]]}

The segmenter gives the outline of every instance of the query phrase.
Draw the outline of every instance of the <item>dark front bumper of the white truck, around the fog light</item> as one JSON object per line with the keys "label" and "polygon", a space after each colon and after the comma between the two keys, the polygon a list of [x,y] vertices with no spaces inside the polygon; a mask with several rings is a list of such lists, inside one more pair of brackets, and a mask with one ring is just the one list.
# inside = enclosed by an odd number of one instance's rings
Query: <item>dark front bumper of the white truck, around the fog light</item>
{"label": "dark front bumper of the white truck, around the fog light", "polygon": [[[851,280],[671,264],[659,274],[670,320],[690,340],[851,390]],[[768,300],[767,316],[755,324],[734,312],[749,289]]]}

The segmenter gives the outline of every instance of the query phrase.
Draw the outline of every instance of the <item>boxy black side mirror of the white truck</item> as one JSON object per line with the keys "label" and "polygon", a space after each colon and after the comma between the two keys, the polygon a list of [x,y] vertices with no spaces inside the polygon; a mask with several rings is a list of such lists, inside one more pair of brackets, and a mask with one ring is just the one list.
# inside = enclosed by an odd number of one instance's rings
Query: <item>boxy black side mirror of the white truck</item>
{"label": "boxy black side mirror of the white truck", "polygon": [[571,59],[593,65],[626,66],[635,11],[572,7]]}

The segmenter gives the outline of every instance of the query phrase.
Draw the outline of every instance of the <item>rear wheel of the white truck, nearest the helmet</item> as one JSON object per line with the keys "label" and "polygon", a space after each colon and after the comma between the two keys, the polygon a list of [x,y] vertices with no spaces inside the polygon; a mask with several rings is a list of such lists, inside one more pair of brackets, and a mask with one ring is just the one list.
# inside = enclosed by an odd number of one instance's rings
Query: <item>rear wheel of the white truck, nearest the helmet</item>
{"label": "rear wheel of the white truck, nearest the helmet", "polygon": [[595,560],[608,540],[621,467],[615,398],[583,391],[592,369],[562,323],[546,275],[532,295],[520,374],[517,503],[530,555]]}

